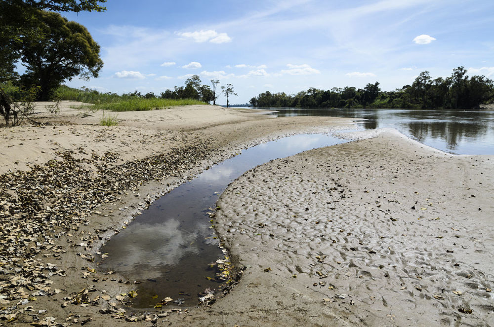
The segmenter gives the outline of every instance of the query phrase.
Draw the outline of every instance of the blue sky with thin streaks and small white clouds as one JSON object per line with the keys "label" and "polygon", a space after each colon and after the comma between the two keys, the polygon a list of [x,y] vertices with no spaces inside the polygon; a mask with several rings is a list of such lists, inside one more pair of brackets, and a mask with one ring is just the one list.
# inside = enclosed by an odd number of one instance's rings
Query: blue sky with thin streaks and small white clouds
{"label": "blue sky with thin streaks and small white clouds", "polygon": [[[458,66],[494,78],[492,0],[108,0],[107,11],[64,13],[101,46],[98,78],[73,87],[154,92],[233,84],[246,103],[264,91],[309,87],[393,90],[422,71]],[[222,97],[218,103],[225,103]]]}

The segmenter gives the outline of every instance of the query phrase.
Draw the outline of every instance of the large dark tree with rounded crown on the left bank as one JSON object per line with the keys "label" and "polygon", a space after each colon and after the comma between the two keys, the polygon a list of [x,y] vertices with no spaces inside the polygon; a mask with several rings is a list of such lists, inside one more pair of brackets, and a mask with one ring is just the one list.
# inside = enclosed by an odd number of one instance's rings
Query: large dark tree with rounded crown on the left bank
{"label": "large dark tree with rounded crown on the left bank", "polygon": [[22,79],[39,85],[41,101],[48,101],[50,92],[64,80],[80,75],[83,79],[98,77],[103,61],[100,47],[87,29],[68,21],[55,12],[41,12],[39,40],[22,40],[20,53],[27,72]]}

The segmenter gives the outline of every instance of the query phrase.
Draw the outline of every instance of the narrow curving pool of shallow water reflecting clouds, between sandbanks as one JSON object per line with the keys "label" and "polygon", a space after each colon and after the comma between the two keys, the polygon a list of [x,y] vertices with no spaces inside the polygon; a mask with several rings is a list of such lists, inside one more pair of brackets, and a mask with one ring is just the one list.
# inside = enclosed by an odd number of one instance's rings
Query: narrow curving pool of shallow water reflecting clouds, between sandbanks
{"label": "narrow curving pool of shallow water reflecting clouds, between sandbanks", "polygon": [[215,208],[228,184],[267,161],[344,142],[323,134],[301,134],[243,150],[156,200],[102,247],[108,257],[100,269],[142,282],[135,284],[138,295],[131,304],[135,308],[153,307],[165,297],[175,305],[196,305],[199,293],[217,289],[222,282],[214,279],[216,268],[209,266],[224,254],[207,212]]}

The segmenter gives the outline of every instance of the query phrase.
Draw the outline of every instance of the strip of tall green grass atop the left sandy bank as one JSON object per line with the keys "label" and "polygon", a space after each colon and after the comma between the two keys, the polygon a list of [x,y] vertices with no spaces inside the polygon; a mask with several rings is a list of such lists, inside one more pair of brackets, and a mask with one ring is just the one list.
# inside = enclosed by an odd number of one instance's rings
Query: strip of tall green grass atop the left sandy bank
{"label": "strip of tall green grass atop the left sandy bank", "polygon": [[142,111],[176,106],[206,105],[205,102],[194,99],[142,98],[118,95],[116,93],[100,93],[89,89],[75,89],[66,85],[59,86],[55,90],[54,96],[60,100],[93,104],[94,106],[91,106],[91,109],[111,111]]}

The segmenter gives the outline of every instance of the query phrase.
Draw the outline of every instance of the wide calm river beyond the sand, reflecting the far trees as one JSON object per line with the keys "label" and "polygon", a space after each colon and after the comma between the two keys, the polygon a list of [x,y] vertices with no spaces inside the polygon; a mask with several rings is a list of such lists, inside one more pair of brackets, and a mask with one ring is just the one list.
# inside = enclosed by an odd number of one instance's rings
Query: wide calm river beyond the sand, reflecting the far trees
{"label": "wide calm river beyond the sand, reflecting the far trees", "polygon": [[365,118],[365,129],[395,128],[425,145],[456,154],[494,154],[494,112],[412,109],[273,109],[284,116]]}

